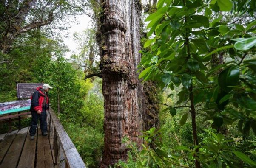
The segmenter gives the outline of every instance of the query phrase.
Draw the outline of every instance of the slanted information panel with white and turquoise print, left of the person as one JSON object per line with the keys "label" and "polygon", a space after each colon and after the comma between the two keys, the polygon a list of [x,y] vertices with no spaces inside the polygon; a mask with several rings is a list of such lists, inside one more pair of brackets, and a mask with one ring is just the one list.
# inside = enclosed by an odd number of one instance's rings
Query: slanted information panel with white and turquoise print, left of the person
{"label": "slanted information panel with white and turquoise print, left of the person", "polygon": [[0,115],[29,110],[30,104],[30,99],[0,103]]}

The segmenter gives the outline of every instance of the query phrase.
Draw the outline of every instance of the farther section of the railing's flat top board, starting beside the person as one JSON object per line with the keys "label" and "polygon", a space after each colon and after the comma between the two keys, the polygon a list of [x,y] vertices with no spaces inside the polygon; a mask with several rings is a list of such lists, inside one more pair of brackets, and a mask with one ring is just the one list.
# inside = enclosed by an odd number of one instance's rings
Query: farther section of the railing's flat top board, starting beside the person
{"label": "farther section of the railing's flat top board, starting beside the person", "polygon": [[61,125],[60,121],[58,120],[57,116],[55,115],[54,111],[50,108],[49,113],[52,118],[52,122],[54,123],[54,127],[58,136],[60,137],[60,144],[63,148],[63,151],[66,151],[71,148],[75,148],[74,143],[71,141],[70,137],[68,136],[67,132]]}

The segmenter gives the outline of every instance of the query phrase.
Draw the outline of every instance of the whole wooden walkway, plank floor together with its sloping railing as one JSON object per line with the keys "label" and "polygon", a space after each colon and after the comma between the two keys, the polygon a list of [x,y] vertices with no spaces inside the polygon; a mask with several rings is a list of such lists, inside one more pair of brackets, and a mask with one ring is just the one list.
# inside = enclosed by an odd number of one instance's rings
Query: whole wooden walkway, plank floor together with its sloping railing
{"label": "whole wooden walkway, plank floor together with its sloping railing", "polygon": [[86,168],[54,111],[47,111],[48,136],[40,128],[29,140],[29,128],[0,135],[0,168]]}

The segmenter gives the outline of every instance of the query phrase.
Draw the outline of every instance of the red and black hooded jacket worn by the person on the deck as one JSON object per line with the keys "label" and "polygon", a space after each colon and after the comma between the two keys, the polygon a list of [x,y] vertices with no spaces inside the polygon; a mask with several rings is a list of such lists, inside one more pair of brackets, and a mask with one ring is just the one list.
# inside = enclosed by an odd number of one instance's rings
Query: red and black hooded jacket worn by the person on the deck
{"label": "red and black hooded jacket worn by the person on the deck", "polygon": [[[49,98],[48,98],[48,95],[43,92],[42,87],[37,87],[37,91],[34,92],[34,94],[30,97],[30,99],[31,99],[31,106],[30,106],[31,111],[40,110],[41,112],[43,112],[43,109],[49,108]],[[45,99],[46,99],[46,103],[43,106],[43,102]]]}

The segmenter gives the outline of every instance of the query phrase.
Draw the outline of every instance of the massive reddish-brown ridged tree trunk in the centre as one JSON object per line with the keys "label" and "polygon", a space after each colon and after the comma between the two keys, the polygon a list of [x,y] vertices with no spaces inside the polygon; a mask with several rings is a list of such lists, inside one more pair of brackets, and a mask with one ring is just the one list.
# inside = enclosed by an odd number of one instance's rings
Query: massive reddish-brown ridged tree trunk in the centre
{"label": "massive reddish-brown ridged tree trunk in the centre", "polygon": [[127,158],[123,137],[142,145],[144,94],[137,79],[140,61],[139,0],[103,0],[101,69],[105,98],[104,154],[101,167]]}

